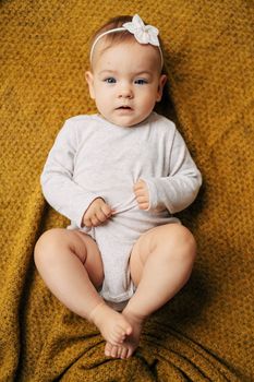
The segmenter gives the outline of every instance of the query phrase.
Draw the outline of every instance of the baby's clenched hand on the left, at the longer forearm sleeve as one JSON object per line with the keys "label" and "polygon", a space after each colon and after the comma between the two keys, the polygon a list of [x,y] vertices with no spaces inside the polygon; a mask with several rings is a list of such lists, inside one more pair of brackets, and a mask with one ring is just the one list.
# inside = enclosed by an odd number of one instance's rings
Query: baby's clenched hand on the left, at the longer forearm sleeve
{"label": "baby's clenched hand on the left, at the longer forearm sleeve", "polygon": [[105,223],[112,215],[113,211],[101,198],[95,199],[86,210],[82,225],[97,227]]}

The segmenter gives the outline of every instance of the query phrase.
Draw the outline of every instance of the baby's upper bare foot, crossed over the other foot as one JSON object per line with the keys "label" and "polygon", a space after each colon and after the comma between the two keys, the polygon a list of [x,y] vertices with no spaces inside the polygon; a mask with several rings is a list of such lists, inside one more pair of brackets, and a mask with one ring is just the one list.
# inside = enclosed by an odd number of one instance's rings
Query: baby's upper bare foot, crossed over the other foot
{"label": "baby's upper bare foot, crossed over the other foot", "polygon": [[120,345],[132,333],[128,320],[105,302],[99,303],[90,313],[90,321],[99,329],[104,338],[112,345]]}

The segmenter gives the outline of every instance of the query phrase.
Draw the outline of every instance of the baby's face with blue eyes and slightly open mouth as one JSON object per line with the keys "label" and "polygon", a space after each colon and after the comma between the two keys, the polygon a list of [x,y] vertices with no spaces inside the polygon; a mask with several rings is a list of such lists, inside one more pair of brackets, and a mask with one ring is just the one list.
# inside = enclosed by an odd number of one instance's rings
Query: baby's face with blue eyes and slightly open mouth
{"label": "baby's face with blue eyes and slightly open mouth", "polygon": [[101,40],[93,61],[86,80],[100,115],[121,127],[145,120],[161,99],[167,80],[160,74],[158,49],[136,41],[107,47]]}

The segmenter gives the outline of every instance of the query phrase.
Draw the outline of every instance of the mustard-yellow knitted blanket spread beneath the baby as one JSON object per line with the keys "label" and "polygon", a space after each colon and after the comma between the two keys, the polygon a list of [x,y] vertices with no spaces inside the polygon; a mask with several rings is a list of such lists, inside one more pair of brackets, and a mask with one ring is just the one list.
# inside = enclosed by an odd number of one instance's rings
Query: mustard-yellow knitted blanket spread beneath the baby
{"label": "mustard-yellow knitted blanket spread beneath the baby", "polygon": [[[204,184],[179,214],[198,246],[191,279],[120,360],[51,295],[33,251],[43,231],[68,223],[39,176],[63,121],[95,112],[89,37],[135,13],[160,31],[168,112]],[[2,0],[0,41],[0,381],[253,381],[253,0]]]}

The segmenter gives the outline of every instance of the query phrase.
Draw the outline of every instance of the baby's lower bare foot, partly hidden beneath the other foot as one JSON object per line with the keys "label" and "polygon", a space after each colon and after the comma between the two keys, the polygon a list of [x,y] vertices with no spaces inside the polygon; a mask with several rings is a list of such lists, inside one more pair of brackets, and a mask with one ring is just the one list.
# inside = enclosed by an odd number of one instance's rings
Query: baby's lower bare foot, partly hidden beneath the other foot
{"label": "baby's lower bare foot, partly hidden beneath the other foot", "polygon": [[126,335],[122,344],[110,344],[107,343],[105,347],[105,355],[113,358],[130,358],[140,344],[140,336],[142,331],[142,324],[144,318],[135,315],[133,312],[125,308],[122,312],[122,315],[125,317],[128,322],[132,326],[132,333]]}

